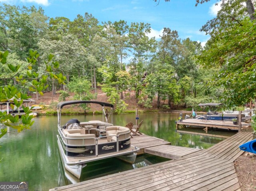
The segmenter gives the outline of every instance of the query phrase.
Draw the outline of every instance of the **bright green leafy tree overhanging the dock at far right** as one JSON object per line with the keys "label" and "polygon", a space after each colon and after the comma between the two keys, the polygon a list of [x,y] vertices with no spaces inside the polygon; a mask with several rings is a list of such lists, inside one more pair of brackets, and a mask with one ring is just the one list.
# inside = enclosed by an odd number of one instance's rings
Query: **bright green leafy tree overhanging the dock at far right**
{"label": "bright green leafy tree overhanging the dock at far right", "polygon": [[[256,21],[250,15],[254,6],[245,7],[242,2],[222,1],[217,17],[202,28],[211,35],[205,50],[198,59],[203,66],[219,68],[211,87],[224,89],[221,101],[226,107],[243,105],[255,95],[255,40]],[[240,8],[238,8],[240,6]],[[235,10],[238,8],[237,10]],[[224,21],[224,19],[230,22]]]}

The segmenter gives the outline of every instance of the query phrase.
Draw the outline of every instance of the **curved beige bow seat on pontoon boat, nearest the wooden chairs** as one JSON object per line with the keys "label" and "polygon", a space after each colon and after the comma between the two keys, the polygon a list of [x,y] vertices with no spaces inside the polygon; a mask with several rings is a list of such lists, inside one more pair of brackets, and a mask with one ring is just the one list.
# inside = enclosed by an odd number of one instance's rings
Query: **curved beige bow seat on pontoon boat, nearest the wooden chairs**
{"label": "curved beige bow seat on pontoon boat, nearest the wooden chairs", "polygon": [[130,138],[130,129],[122,126],[110,126],[106,127],[106,135],[108,142],[116,141],[116,137],[118,137],[118,141],[122,141]]}

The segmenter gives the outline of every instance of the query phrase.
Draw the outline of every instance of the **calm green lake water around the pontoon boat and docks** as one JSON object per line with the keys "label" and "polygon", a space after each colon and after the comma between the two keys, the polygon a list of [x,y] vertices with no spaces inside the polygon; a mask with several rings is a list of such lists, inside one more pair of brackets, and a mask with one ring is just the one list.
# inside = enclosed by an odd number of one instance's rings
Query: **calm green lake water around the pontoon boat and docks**
{"label": "calm green lake water around the pontoon boat and docks", "polygon": [[[80,121],[102,120],[102,115],[66,115],[62,116],[62,121],[66,122],[71,118]],[[130,121],[135,123],[135,114],[114,115],[113,119],[115,125],[124,126]],[[206,149],[223,140],[176,133],[176,119],[178,113],[145,113],[140,114],[138,121],[144,121],[140,129],[142,133],[164,139],[172,145]],[[10,132],[0,139],[0,159],[3,158],[0,162],[0,181],[28,181],[29,189],[38,191],[70,184],[64,175],[66,172],[58,152],[57,117],[39,116],[35,117],[34,121],[31,129],[21,133],[9,129]],[[166,160],[152,155],[140,155],[133,165],[116,158],[95,161],[88,163],[83,169],[80,181]]]}

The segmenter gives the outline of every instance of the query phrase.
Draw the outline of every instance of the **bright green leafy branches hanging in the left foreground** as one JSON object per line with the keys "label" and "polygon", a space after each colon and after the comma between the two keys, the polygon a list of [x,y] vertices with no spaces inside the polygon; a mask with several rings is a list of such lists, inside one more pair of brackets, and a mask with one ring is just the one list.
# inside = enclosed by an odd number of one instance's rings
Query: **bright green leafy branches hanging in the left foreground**
{"label": "bright green leafy branches hanging in the left foreground", "polygon": [[[58,80],[59,83],[64,83],[65,77],[60,74],[54,74],[52,72],[52,67],[50,64],[53,65],[53,68],[58,68],[58,62],[54,62],[52,58],[54,57],[52,54],[48,56],[48,60],[45,63],[45,73],[41,76],[37,72],[32,72],[33,67],[36,66],[37,59],[39,54],[37,51],[30,50],[29,57],[27,58],[27,65],[23,68],[23,71],[26,71],[28,77],[24,78],[23,75],[20,74],[20,65],[14,65],[8,63],[8,51],[0,52],[0,63],[2,66],[8,65],[8,71],[10,74],[6,76],[2,74],[0,78],[8,82],[8,80],[13,80],[15,84],[9,84],[7,86],[3,86],[0,88],[0,101],[1,102],[10,102],[10,107],[14,110],[16,108],[22,107],[25,115],[22,115],[20,118],[18,115],[13,116],[11,113],[7,111],[0,111],[0,123],[4,124],[7,127],[12,127],[16,129],[18,132],[22,131],[23,129],[29,129],[34,121],[32,121],[33,115],[30,115],[32,112],[32,108],[25,107],[22,105],[24,99],[28,99],[31,96],[28,96],[26,93],[18,90],[19,86],[23,86],[23,84],[29,84],[30,91],[39,92],[39,94],[43,94],[42,91],[47,88],[45,86],[48,78],[55,78]],[[11,76],[11,78],[8,78]],[[1,128],[0,137],[6,134],[7,129]]]}

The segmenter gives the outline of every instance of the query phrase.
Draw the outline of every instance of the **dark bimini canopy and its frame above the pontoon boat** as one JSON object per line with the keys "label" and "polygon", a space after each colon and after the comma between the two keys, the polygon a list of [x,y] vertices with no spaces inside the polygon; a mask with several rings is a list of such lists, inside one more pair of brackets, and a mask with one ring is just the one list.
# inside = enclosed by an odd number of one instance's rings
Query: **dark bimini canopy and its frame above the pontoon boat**
{"label": "dark bimini canopy and its frame above the pontoon boat", "polygon": [[[66,105],[74,105],[74,104],[81,104],[81,103],[95,103],[99,104],[102,106],[102,122],[108,123],[108,119],[111,116],[111,123],[113,122],[113,110],[114,110],[114,105],[111,103],[105,103],[101,101],[85,101],[85,100],[74,100],[74,101],[62,101],[59,102],[57,105],[57,113],[58,113],[58,125],[60,125],[60,120],[61,120],[61,109],[66,106]],[[110,107],[111,110],[108,112],[107,109],[105,110],[104,107]],[[105,118],[105,120],[104,120]]]}

